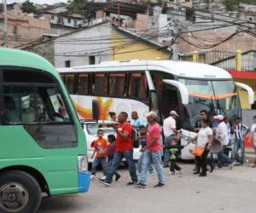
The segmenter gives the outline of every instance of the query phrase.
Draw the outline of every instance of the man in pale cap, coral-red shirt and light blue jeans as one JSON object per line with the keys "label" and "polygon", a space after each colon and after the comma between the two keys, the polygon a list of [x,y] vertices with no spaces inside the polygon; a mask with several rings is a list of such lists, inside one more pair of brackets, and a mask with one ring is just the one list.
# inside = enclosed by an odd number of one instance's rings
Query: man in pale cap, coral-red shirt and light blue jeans
{"label": "man in pale cap, coral-red shirt and light blue jeans", "polygon": [[157,114],[154,111],[151,111],[147,115],[148,120],[148,134],[147,134],[147,146],[141,149],[141,152],[144,153],[143,158],[143,168],[142,176],[140,181],[137,183],[137,187],[146,187],[147,186],[147,177],[148,177],[148,166],[153,161],[155,170],[157,171],[159,182],[154,187],[163,187],[165,186],[165,177],[164,169],[162,166],[162,145],[160,143],[160,125],[157,123]]}

